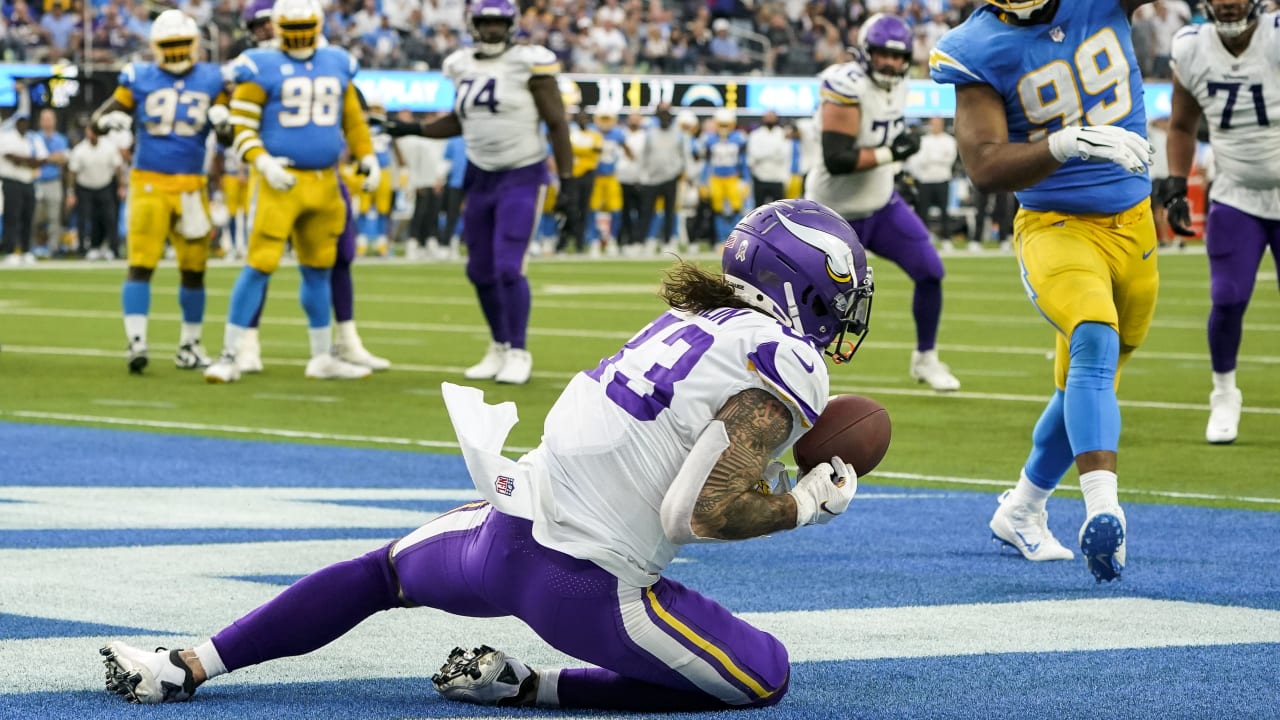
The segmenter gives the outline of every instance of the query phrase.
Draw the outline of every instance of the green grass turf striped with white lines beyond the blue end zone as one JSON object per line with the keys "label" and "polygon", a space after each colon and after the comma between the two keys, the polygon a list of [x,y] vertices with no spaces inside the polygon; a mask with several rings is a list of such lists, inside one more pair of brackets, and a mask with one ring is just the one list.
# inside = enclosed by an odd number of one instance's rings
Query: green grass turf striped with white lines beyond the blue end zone
{"label": "green grass turf striped with white lines beyond the blue end zone", "polygon": [[[1167,252],[1160,263],[1156,320],[1120,388],[1121,489],[1129,498],[1277,510],[1280,383],[1267,378],[1280,369],[1280,324],[1272,320],[1280,299],[1270,263],[1245,322],[1239,366],[1245,413],[1234,446],[1203,441],[1210,392],[1206,259]],[[517,402],[522,421],[511,447],[535,445],[543,414],[571,374],[617,351],[662,310],[655,291],[666,265],[531,264],[534,382],[479,383],[490,401]],[[951,396],[908,377],[911,287],[891,264],[873,265],[872,334],[851,365],[832,368],[832,389],[869,395],[888,407],[893,443],[877,471],[881,482],[992,492],[995,483],[1016,479],[1051,389],[1046,352],[1053,336],[1023,293],[1014,258],[947,259],[940,347],[964,383]],[[218,265],[209,274],[205,334],[211,354],[221,346],[237,273]],[[177,270],[164,266],[154,286],[151,366],[143,377],[131,377],[119,316],[123,274],[118,265],[58,263],[0,269],[0,420],[134,428],[145,421],[142,429],[159,432],[454,451],[439,386],[461,382],[461,369],[479,359],[488,341],[460,264],[357,263],[361,334],[396,368],[352,383],[303,379],[307,340],[298,274],[289,266],[271,281],[262,323],[266,373],[206,386],[198,373],[173,366]],[[1074,482],[1070,473],[1065,483]]]}

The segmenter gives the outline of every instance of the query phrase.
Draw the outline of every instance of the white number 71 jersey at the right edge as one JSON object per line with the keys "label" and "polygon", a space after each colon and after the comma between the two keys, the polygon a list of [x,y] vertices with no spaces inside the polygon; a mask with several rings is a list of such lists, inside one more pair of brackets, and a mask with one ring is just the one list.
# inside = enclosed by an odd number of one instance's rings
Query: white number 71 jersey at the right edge
{"label": "white number 71 jersey at the right edge", "polygon": [[1179,83],[1204,110],[1217,164],[1213,200],[1280,219],[1280,13],[1265,13],[1239,56],[1212,23],[1174,36]]}

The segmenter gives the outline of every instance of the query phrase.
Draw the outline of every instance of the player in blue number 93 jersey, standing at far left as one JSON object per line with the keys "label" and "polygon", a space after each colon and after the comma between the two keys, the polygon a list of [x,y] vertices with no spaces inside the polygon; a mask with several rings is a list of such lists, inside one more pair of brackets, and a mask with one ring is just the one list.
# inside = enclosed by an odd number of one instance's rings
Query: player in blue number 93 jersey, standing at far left
{"label": "player in blue number 93 jersey, standing at far left", "polygon": [[133,115],[137,142],[129,172],[129,270],[120,292],[129,372],[147,366],[151,274],[168,240],[178,255],[182,334],[174,364],[205,368],[200,345],[205,322],[205,265],[210,233],[205,146],[212,126],[227,117],[218,65],[200,63],[200,26],[182,10],[165,10],[151,24],[156,60],[131,63],[110,99],[93,113]]}

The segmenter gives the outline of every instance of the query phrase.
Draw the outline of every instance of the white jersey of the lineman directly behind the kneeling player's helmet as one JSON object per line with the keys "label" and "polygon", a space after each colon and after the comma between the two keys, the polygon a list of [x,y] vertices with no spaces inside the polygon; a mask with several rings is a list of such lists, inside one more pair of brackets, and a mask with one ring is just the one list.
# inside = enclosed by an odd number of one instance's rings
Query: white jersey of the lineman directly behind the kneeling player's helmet
{"label": "white jersey of the lineman directly behind the kneeling player's helmet", "polygon": [[[906,82],[884,90],[876,85],[860,63],[832,65],[822,72],[822,102],[856,105],[863,127],[858,133],[859,147],[887,147],[906,129]],[[814,137],[822,143],[822,105],[813,123]],[[822,155],[817,158],[805,179],[804,196],[815,200],[846,219],[865,218],[888,205],[893,197],[893,176],[899,163],[877,165],[842,176],[827,172]]]}

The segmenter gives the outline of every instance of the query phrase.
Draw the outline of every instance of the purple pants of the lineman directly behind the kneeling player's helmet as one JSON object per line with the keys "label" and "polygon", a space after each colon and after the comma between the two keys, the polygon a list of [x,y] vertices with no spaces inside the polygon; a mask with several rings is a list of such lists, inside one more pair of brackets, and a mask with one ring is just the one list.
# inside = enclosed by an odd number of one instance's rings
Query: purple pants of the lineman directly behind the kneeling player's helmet
{"label": "purple pants of the lineman directly behind the kneeling player's helmet", "polygon": [[911,316],[915,348],[933,350],[942,320],[942,258],[929,242],[929,229],[902,197],[893,192],[887,205],[865,218],[849,220],[863,247],[890,260],[915,283]]}

